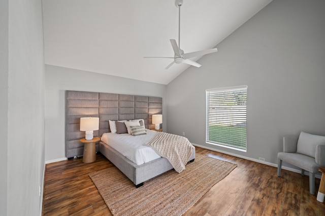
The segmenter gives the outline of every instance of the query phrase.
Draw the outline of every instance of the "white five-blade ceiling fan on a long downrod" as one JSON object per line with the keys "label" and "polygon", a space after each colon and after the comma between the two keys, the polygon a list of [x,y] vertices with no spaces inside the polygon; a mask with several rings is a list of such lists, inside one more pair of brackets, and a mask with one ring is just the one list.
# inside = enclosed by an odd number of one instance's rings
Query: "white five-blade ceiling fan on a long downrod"
{"label": "white five-blade ceiling fan on a long downrod", "polygon": [[174,59],[172,63],[170,63],[165,69],[170,68],[174,63],[180,64],[180,63],[185,63],[188,65],[192,65],[195,67],[201,67],[199,63],[190,60],[190,58],[198,57],[198,56],[203,56],[209,53],[215,53],[218,50],[216,48],[214,49],[209,49],[209,50],[202,50],[202,51],[197,51],[197,52],[192,52],[192,53],[184,53],[183,50],[180,49],[180,22],[181,22],[181,6],[183,4],[183,0],[175,0],[175,6],[178,7],[178,45],[175,39],[170,39],[172,48],[174,50],[174,57],[143,57],[143,58],[168,58],[168,59]]}

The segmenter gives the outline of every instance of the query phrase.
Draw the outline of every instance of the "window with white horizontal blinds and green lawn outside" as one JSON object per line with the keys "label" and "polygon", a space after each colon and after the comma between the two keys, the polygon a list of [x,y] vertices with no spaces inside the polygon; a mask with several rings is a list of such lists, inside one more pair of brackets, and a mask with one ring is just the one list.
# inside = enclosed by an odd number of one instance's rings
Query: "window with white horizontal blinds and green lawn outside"
{"label": "window with white horizontal blinds and green lawn outside", "polygon": [[206,90],[206,142],[246,151],[247,85]]}

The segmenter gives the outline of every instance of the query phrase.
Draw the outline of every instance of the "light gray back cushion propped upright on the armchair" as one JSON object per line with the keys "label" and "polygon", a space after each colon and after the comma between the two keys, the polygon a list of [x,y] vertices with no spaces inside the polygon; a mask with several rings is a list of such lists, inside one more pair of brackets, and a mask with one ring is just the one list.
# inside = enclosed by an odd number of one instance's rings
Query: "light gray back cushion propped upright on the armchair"
{"label": "light gray back cushion propped upright on the armchair", "polygon": [[325,137],[301,132],[297,143],[297,153],[315,158],[318,144],[325,144]]}

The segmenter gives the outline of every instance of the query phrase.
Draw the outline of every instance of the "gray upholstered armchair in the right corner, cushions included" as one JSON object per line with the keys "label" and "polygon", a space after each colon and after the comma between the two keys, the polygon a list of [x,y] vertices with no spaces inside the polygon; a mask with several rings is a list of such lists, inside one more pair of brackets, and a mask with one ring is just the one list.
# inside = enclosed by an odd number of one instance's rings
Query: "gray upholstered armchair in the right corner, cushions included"
{"label": "gray upholstered armchair in the right corner, cushions included", "polygon": [[278,177],[281,175],[282,161],[309,172],[309,192],[315,194],[315,174],[320,166],[325,166],[325,137],[300,133],[299,137],[283,137],[283,152],[278,153]]}

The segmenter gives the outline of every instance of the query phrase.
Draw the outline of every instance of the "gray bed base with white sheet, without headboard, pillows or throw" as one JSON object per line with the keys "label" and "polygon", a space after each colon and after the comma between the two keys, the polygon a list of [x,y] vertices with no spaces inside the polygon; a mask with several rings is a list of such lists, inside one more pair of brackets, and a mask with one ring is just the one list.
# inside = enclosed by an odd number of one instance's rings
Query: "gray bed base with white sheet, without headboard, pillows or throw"
{"label": "gray bed base with white sheet, without headboard, pillows or throw", "polygon": [[[142,145],[154,138],[156,133],[161,132],[147,129],[146,133],[137,137],[128,134],[106,133],[103,134],[100,142],[100,152],[120,169],[136,187],[140,187],[145,181],[174,168],[167,158],[160,157],[152,148]],[[142,139],[143,137],[144,139]],[[123,146],[123,143],[126,143],[127,147]],[[195,148],[193,147],[188,161],[192,162],[194,158]]]}

